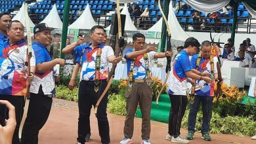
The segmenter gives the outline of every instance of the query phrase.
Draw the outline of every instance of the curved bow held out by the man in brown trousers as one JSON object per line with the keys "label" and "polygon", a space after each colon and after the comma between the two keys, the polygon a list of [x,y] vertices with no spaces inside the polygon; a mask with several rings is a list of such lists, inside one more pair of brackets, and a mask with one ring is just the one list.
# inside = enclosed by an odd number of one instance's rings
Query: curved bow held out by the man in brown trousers
{"label": "curved bow held out by the man in brown trousers", "polygon": [[[165,25],[167,27],[167,51],[172,51],[171,50],[171,29],[169,27],[169,24],[168,24],[168,20],[165,16],[165,14],[163,13],[163,9],[161,9],[161,1],[158,0],[158,7],[161,11],[161,14],[163,15],[163,20],[165,21]],[[167,73],[166,76],[165,76],[165,81],[163,83],[163,86],[161,87],[161,90],[160,92],[158,93],[158,96],[156,97],[156,104],[158,105],[158,100],[160,98],[160,94],[161,92],[163,92],[163,88],[165,87],[165,84],[167,83],[167,80],[168,80],[168,77],[169,77],[169,73],[171,71],[171,56],[167,56],[167,64],[166,64],[166,67],[165,67],[165,72]]]}

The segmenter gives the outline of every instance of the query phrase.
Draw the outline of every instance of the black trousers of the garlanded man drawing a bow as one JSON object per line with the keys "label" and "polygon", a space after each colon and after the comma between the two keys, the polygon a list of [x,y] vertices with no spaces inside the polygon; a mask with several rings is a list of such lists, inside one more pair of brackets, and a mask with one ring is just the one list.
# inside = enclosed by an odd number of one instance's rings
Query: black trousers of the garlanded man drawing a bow
{"label": "black trousers of the garlanded man drawing a bow", "polygon": [[[90,115],[92,105],[95,107],[96,101],[106,88],[107,82],[100,81],[100,89],[95,92],[94,81],[81,81],[79,84],[78,92],[78,137],[77,141],[85,143],[85,135],[90,133]],[[106,107],[108,102],[108,93],[104,96],[100,104],[98,105],[98,111],[96,118],[98,119],[98,131],[102,144],[110,143],[110,127],[108,124],[108,117],[106,113]]]}

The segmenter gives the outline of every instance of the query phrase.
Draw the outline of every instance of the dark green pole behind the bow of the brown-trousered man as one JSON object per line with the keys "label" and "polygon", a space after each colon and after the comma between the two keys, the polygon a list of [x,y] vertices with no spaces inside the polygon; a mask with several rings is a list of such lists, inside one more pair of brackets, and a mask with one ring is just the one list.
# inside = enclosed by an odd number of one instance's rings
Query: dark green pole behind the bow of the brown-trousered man
{"label": "dark green pole behind the bow of the brown-trousered man", "polygon": [[[163,1],[162,7],[163,7],[163,13],[165,14],[165,16],[168,16],[168,14],[169,14],[169,4],[170,4],[170,0]],[[160,7],[160,6],[158,6],[158,7]],[[166,35],[167,35],[167,27],[166,27],[165,21],[163,20],[162,27],[161,27],[160,48],[158,48],[158,52],[165,52],[166,38],[167,38]]]}

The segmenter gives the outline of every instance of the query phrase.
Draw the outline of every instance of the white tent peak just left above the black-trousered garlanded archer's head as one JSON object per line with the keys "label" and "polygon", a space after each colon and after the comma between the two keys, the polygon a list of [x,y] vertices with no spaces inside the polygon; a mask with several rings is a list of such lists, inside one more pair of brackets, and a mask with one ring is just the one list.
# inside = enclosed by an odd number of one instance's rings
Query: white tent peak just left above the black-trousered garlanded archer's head
{"label": "white tent peak just left above the black-trousered garlanded archer's head", "polygon": [[91,29],[93,26],[96,26],[96,22],[91,14],[89,4],[87,4],[83,14],[73,24],[68,26],[68,29]]}

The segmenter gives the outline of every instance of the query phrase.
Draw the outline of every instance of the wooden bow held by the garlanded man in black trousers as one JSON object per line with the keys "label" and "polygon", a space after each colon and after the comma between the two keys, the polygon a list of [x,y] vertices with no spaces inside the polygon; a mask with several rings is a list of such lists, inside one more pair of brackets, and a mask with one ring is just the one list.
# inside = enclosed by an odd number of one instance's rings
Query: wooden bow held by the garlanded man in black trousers
{"label": "wooden bow held by the garlanded man in black trousers", "polygon": [[[121,33],[121,12],[120,12],[120,3],[119,0],[116,1],[116,9],[117,9],[117,22],[118,22],[118,33],[116,36],[116,46],[115,46],[115,56],[119,56],[119,45],[120,43],[123,43],[124,39],[122,37],[122,33]],[[113,63],[113,67],[110,71],[110,75],[108,77],[108,84],[105,88],[105,90],[103,91],[103,93],[100,95],[100,98],[98,98],[98,101],[96,102],[95,105],[95,116],[97,116],[97,111],[98,111],[98,105],[100,104],[100,101],[104,98],[106,92],[108,92],[108,89],[110,88],[112,81],[114,79],[114,75],[115,75],[115,70],[116,70],[116,65],[117,63]]]}

